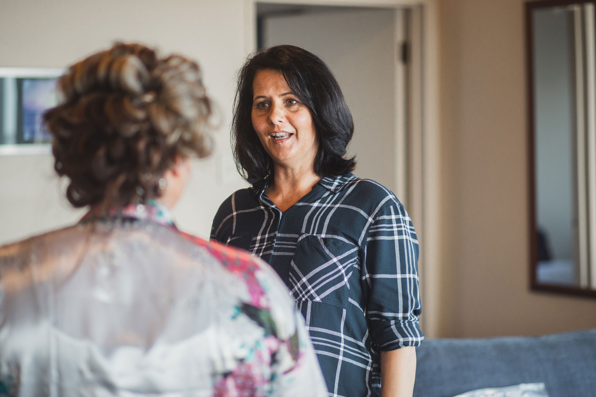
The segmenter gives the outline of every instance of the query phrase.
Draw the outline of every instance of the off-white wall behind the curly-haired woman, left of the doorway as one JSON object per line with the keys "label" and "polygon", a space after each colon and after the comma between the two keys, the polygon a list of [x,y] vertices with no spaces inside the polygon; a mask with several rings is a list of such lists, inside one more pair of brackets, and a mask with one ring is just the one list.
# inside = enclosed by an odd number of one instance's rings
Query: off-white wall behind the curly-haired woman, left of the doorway
{"label": "off-white wall behind the curly-haired woman, left of the doorway", "polygon": [[[174,215],[185,231],[207,237],[219,204],[244,187],[231,163],[229,122],[235,72],[244,58],[241,0],[0,0],[0,67],[63,68],[115,40],[140,41],[163,54],[198,60],[223,125],[216,153],[194,164]],[[49,154],[0,156],[0,244],[75,222],[64,182]]]}

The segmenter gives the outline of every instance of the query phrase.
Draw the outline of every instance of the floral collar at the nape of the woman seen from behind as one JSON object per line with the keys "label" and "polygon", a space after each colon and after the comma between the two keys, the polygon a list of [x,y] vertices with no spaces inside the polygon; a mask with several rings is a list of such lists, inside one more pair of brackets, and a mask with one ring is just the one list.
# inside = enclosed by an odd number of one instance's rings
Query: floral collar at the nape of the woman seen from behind
{"label": "floral collar at the nape of the woman seen from behind", "polygon": [[153,198],[144,204],[130,204],[120,210],[116,209],[91,209],[80,222],[94,221],[108,218],[132,218],[141,221],[156,222],[160,225],[176,227],[172,213],[162,203]]}

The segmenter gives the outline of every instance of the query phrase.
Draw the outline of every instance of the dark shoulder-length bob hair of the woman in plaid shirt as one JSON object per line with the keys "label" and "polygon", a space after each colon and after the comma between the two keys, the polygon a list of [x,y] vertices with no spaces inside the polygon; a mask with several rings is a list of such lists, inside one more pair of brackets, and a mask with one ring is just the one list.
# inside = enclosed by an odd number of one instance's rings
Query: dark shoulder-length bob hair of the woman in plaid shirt
{"label": "dark shoulder-length bob hair of the woman in plaid shirt", "polygon": [[253,128],[253,80],[259,70],[278,70],[285,82],[312,114],[318,137],[315,173],[344,175],[356,166],[354,157],[344,159],[354,133],[352,113],[331,70],[312,52],[294,45],[259,50],[238,72],[234,100],[232,148],[238,172],[254,188],[271,183],[272,160]]}

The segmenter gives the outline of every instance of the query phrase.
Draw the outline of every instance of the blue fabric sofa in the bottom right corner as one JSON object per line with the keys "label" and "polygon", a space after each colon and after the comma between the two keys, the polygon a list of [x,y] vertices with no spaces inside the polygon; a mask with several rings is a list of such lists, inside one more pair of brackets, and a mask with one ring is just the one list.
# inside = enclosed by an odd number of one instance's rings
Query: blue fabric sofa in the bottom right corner
{"label": "blue fabric sofa in the bottom right corner", "polygon": [[596,329],[538,337],[427,339],[414,397],[544,382],[549,397],[596,397]]}

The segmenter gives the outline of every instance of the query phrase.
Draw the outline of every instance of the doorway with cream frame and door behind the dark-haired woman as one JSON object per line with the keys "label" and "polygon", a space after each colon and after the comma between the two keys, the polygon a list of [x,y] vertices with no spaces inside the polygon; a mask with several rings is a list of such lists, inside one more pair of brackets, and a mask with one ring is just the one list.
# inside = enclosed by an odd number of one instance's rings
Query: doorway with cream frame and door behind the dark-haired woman
{"label": "doorway with cream frame and door behind the dark-haired woman", "polygon": [[[294,0],[244,0],[245,49],[297,45],[321,57],[342,88],[355,132],[355,175],[392,190],[420,241],[418,274],[426,315],[438,333],[438,57],[435,0],[386,0],[378,7]],[[321,3],[327,2],[321,0]],[[424,110],[424,111],[423,111]]]}

